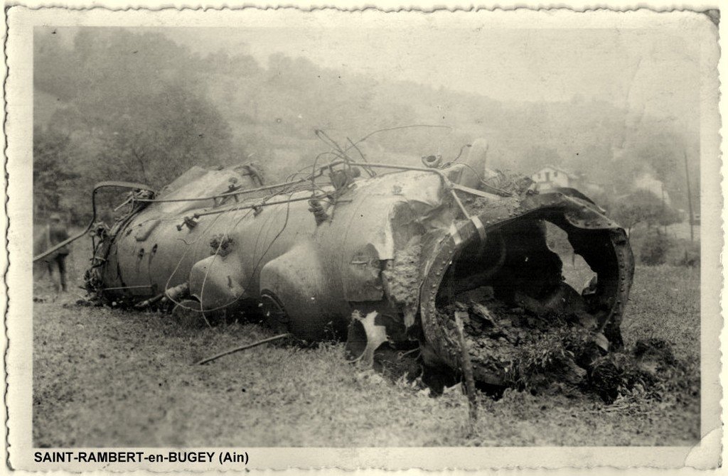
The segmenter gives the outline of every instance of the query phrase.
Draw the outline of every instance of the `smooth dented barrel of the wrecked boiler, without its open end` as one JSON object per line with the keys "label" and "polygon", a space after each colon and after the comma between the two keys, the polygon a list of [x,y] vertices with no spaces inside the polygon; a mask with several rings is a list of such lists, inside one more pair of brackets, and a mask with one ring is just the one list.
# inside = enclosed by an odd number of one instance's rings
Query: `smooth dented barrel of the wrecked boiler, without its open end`
{"label": "smooth dented barrel of the wrecked boiler, without its open end", "polygon": [[[210,177],[178,180],[158,198],[224,189],[230,177],[215,175],[220,186],[210,186]],[[356,181],[336,205],[324,204],[329,218],[320,224],[309,211],[310,190],[217,206],[210,200],[206,207],[151,203],[115,230],[104,250],[103,295],[141,301],[189,282],[190,295],[206,312],[234,312],[270,295],[285,306],[290,330],[320,337],[327,324],[346,325],[354,309],[396,311],[381,271],[413,237],[452,223],[456,210],[443,201],[441,182],[438,175],[419,171]],[[268,205],[282,200],[288,202]],[[185,224],[185,217],[195,224]],[[229,249],[215,253],[213,238],[221,236]]]}

